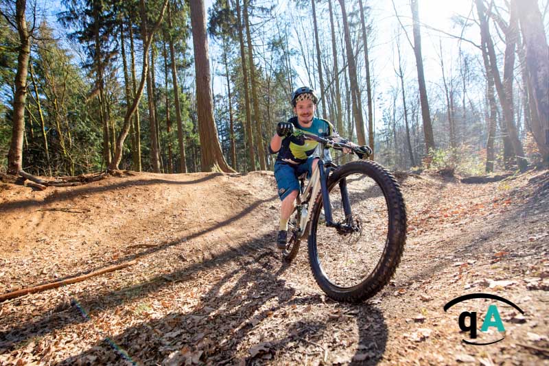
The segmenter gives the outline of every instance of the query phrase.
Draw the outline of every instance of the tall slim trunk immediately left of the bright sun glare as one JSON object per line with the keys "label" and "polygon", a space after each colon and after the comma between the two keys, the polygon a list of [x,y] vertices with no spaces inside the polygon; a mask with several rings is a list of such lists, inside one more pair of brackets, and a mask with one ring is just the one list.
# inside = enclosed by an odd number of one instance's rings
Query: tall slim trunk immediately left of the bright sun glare
{"label": "tall slim trunk immediately left of the bright sun glare", "polygon": [[433,128],[431,123],[431,113],[429,111],[429,101],[427,97],[427,88],[425,87],[425,75],[423,74],[423,57],[421,56],[421,32],[419,29],[419,10],[418,0],[411,0],[412,21],[414,27],[414,55],[417,66],[417,82],[419,84],[419,100],[421,101],[421,117],[423,118],[423,133],[425,134],[425,154],[430,155],[431,149],[434,149]]}

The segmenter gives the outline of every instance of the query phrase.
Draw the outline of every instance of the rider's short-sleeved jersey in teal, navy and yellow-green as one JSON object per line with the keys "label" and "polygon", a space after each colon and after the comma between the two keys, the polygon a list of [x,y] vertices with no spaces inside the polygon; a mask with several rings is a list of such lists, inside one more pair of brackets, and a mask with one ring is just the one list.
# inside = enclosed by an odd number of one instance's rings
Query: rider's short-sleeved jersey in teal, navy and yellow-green
{"label": "rider's short-sleeved jersey in teal, navy and yellow-green", "polygon": [[[294,125],[296,131],[304,132],[305,134],[315,134],[320,137],[337,136],[338,133],[334,129],[334,125],[326,121],[325,119],[313,118],[311,127],[301,127],[297,121],[297,117],[288,119],[288,122]],[[314,154],[318,142],[316,141],[303,141],[303,139],[292,134],[282,139],[282,145],[278,151],[277,161],[289,162],[290,164],[303,164],[307,161],[309,156]],[[270,150],[270,146],[269,146]],[[277,151],[270,151],[271,154]]]}

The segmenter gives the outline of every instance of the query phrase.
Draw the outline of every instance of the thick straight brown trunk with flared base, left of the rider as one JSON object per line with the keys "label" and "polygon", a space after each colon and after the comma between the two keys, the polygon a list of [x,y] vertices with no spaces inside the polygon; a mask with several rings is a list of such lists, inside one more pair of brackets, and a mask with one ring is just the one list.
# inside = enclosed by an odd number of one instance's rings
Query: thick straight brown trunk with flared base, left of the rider
{"label": "thick straight brown trunk with flared base, left of the rider", "polygon": [[204,1],[191,0],[190,8],[196,74],[196,109],[201,146],[200,164],[202,171],[221,170],[226,173],[235,173],[225,161],[218,139],[218,131],[213,120],[213,98],[211,95]]}

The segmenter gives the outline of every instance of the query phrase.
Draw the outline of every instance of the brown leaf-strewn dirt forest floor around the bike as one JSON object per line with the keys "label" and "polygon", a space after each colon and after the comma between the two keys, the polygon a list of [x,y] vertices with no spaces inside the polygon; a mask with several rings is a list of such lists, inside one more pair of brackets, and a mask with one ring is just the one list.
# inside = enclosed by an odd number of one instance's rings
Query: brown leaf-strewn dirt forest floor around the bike
{"label": "brown leaf-strewn dirt forest floor around the bike", "polygon": [[[0,365],[549,365],[549,171],[487,184],[399,177],[404,256],[362,304],[320,291],[306,245],[283,263],[271,172],[0,184],[0,294],[137,259],[0,303]],[[484,300],[443,310],[468,293],[524,315]],[[480,328],[489,304],[505,338],[463,343],[459,310]]]}

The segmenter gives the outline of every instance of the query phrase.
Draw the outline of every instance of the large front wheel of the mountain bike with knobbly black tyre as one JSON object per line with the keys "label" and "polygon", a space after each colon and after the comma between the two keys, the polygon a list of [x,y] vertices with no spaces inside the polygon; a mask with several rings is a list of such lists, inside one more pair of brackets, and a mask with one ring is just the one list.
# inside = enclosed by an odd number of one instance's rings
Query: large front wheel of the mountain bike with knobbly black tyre
{"label": "large front wheel of the mountain bike with knobbly black tyre", "polygon": [[360,302],[381,290],[399,265],[406,242],[404,198],[393,175],[371,161],[344,164],[329,177],[327,186],[333,222],[347,229],[319,223],[324,210],[318,195],[312,211],[309,263],[318,286],[329,297]]}

